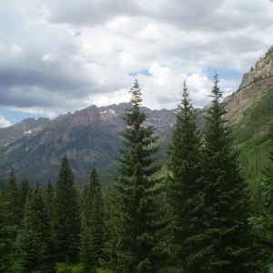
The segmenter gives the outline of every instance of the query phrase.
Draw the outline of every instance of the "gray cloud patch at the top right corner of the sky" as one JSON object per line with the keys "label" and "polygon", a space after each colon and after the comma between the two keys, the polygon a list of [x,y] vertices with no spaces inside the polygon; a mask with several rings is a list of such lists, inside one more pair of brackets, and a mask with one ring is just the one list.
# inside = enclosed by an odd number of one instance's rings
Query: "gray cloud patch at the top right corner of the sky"
{"label": "gray cloud patch at the top right corner of the sky", "polygon": [[172,0],[166,1],[154,16],[187,31],[216,33],[236,31],[250,25],[263,29],[272,24],[267,7],[260,1]]}

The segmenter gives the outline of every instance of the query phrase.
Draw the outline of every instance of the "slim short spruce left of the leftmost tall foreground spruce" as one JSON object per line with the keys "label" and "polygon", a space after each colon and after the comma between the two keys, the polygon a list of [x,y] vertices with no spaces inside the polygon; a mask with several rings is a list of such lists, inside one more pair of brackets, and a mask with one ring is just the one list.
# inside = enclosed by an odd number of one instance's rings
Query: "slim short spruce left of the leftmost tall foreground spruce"
{"label": "slim short spruce left of the leftmost tall foreground spruce", "polygon": [[83,217],[85,218],[87,230],[90,232],[90,243],[93,249],[96,266],[98,266],[99,259],[103,258],[105,227],[104,204],[96,167],[93,167],[89,177],[89,183],[84,189]]}

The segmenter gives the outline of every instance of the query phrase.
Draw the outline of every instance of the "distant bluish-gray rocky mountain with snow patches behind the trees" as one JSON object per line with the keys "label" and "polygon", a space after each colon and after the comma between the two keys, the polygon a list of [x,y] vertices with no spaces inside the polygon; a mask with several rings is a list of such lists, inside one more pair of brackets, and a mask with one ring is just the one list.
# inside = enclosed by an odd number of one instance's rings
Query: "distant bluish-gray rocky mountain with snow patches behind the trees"
{"label": "distant bluish-gray rocky mountain with snow patches behind the trees", "polygon": [[[126,103],[118,106],[89,106],[74,114],[49,119],[25,119],[15,126],[1,129],[0,171],[6,177],[10,167],[17,177],[27,176],[34,183],[39,178],[57,177],[61,157],[66,153],[76,179],[87,177],[91,167],[104,168],[113,162],[121,147],[118,132],[125,127],[120,118]],[[171,110],[150,110],[147,126],[156,126],[156,134],[174,126],[176,115]]]}

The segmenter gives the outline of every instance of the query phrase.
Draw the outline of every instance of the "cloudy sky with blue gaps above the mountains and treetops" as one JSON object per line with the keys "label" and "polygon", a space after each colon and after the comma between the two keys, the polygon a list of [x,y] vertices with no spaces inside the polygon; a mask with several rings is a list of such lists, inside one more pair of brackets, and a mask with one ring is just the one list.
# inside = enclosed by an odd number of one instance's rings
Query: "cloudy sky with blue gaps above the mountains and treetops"
{"label": "cloudy sky with blue gaps above the mountains and treetops", "polygon": [[183,82],[206,106],[217,70],[224,96],[273,45],[272,0],[0,2],[0,127],[127,102],[173,109]]}

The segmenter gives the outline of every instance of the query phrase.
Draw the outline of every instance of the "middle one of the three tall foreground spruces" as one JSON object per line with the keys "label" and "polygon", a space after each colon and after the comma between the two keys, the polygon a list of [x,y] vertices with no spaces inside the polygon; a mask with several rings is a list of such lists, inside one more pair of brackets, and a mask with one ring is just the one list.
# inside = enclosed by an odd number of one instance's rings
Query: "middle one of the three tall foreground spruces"
{"label": "middle one of the three tall foreground spruces", "polygon": [[175,264],[185,272],[197,272],[197,234],[202,227],[204,194],[200,187],[199,148],[196,114],[184,83],[177,124],[168,149],[167,200],[171,207],[173,244],[177,246]]}

